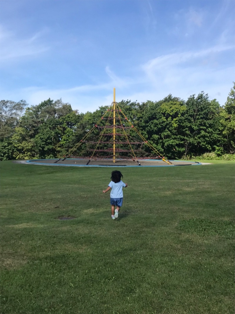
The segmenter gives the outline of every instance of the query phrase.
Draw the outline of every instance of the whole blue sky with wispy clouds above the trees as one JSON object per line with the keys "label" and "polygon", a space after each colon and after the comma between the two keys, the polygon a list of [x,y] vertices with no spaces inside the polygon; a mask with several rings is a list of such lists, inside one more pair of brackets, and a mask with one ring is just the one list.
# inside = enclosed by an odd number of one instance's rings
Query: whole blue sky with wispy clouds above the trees
{"label": "whole blue sky with wispy clouds above the trees", "polygon": [[1,0],[0,97],[224,105],[235,81],[235,0]]}

